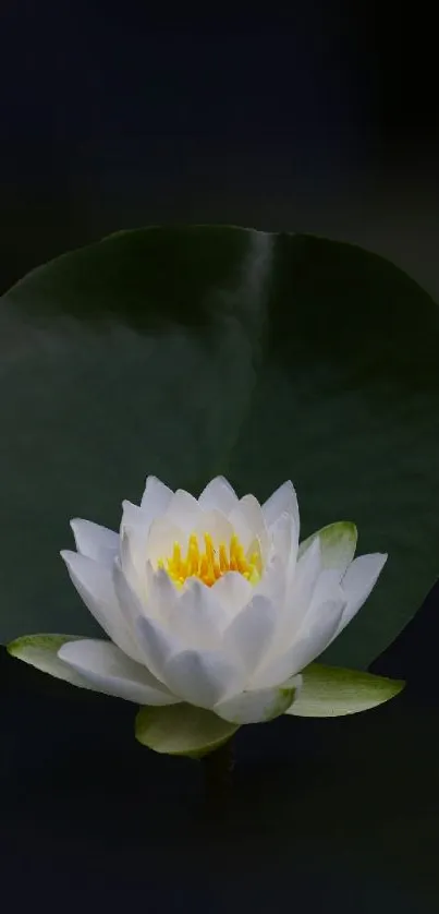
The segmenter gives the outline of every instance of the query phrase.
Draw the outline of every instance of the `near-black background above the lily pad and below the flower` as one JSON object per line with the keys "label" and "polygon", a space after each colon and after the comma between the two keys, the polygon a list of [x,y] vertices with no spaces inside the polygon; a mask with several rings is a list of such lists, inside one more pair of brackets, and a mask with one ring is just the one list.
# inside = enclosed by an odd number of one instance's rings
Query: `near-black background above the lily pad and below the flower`
{"label": "near-black background above the lily pad and below the flower", "polygon": [[[16,0],[0,38],[0,291],[119,228],[216,221],[354,241],[439,296],[423,4],[227,16]],[[438,613],[436,591],[377,662],[410,681],[389,706],[242,732],[215,820],[200,766],[136,745],[132,706],[3,652],[0,858],[16,910],[437,911]]]}

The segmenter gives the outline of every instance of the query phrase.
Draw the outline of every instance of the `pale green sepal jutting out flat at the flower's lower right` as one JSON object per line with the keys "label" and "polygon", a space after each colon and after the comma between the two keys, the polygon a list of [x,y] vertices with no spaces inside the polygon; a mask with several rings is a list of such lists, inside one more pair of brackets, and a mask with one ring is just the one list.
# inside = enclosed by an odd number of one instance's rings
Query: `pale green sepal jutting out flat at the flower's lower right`
{"label": "pale green sepal jutting out flat at the flower's lower right", "polygon": [[302,690],[285,711],[298,718],[338,718],[367,711],[389,701],[405,685],[403,680],[321,663],[310,663],[302,676]]}

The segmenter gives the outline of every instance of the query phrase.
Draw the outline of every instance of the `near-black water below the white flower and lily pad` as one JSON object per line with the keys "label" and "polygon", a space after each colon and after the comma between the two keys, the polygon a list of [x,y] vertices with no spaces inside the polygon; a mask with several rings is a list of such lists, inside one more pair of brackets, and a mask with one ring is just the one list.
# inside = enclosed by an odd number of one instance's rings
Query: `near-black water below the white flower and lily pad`
{"label": "near-black water below the white flower and lily pad", "polygon": [[410,685],[338,720],[243,729],[229,801],[134,741],[135,708],[1,654],[2,861],[19,910],[434,912],[439,587],[377,663]]}

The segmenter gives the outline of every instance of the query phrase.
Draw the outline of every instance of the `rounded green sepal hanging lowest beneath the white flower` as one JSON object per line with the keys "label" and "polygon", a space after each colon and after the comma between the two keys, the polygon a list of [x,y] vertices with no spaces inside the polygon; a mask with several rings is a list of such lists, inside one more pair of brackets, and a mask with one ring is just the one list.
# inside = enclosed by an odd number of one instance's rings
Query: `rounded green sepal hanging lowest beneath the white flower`
{"label": "rounded green sepal hanging lowest beneath the white flower", "polygon": [[144,746],[156,753],[191,758],[218,749],[236,730],[236,724],[211,711],[183,703],[141,708],[135,720],[135,736]]}

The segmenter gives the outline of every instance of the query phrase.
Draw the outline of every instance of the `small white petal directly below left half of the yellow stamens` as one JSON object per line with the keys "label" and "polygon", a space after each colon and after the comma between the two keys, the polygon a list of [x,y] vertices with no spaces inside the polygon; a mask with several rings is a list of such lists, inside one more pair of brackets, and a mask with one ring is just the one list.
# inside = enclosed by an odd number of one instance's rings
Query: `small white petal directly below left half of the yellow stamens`
{"label": "small white petal directly below left half of the yellow stamens", "polygon": [[212,589],[197,578],[190,578],[176,596],[169,613],[169,626],[184,648],[215,649],[221,640],[221,604]]}

